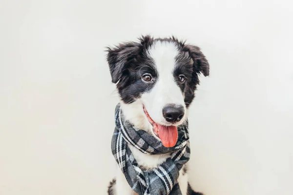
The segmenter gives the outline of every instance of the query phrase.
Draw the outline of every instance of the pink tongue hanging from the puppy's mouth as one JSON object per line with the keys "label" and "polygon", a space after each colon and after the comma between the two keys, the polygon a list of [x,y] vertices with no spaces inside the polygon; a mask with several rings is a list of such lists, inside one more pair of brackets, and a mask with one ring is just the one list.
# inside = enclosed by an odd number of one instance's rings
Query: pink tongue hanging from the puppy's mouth
{"label": "pink tongue hanging from the puppy's mouth", "polygon": [[163,145],[167,148],[175,146],[178,139],[176,126],[163,126],[158,124],[159,137]]}

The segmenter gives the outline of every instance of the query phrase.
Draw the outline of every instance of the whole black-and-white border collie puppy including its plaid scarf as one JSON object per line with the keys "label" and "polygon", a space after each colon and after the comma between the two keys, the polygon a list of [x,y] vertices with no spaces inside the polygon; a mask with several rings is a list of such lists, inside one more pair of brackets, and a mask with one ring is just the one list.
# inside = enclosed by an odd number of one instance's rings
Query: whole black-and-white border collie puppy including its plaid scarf
{"label": "whole black-and-white border collie puppy including its plaid scarf", "polygon": [[119,166],[108,194],[202,195],[189,186],[186,163],[188,109],[199,75],[209,76],[200,48],[174,37],[145,36],[107,48],[107,61],[121,99],[112,139]]}

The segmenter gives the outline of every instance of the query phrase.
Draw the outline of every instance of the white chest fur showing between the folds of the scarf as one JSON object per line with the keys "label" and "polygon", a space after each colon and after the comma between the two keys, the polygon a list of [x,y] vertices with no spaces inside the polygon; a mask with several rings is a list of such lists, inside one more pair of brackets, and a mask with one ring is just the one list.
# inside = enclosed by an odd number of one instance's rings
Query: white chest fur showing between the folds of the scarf
{"label": "white chest fur showing between the folds of the scarf", "polygon": [[136,149],[132,145],[128,144],[128,147],[130,148],[138,165],[144,170],[156,168],[158,167],[158,165],[165,162],[168,157],[170,157],[170,154],[148,155],[148,154],[144,154],[140,152],[138,149]]}

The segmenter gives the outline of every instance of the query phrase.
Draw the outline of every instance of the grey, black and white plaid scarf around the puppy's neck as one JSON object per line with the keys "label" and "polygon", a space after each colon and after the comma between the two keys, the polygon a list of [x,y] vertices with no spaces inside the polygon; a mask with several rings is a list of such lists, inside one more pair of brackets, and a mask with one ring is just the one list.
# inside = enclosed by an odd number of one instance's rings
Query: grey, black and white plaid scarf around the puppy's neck
{"label": "grey, black and white plaid scarf around the puppy's neck", "polygon": [[[177,179],[190,156],[188,123],[177,127],[178,141],[174,147],[167,148],[146,131],[126,121],[119,104],[116,106],[115,122],[112,154],[130,187],[139,195],[182,195]],[[170,157],[157,168],[142,170],[128,144],[148,155],[169,153]]]}

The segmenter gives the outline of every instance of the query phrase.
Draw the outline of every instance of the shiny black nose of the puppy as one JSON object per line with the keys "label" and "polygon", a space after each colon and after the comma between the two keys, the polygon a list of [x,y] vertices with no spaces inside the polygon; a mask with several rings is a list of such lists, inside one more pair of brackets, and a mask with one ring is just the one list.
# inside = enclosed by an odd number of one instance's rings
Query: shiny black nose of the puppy
{"label": "shiny black nose of the puppy", "polygon": [[163,116],[168,122],[178,122],[184,116],[184,107],[181,105],[167,105],[163,108]]}

